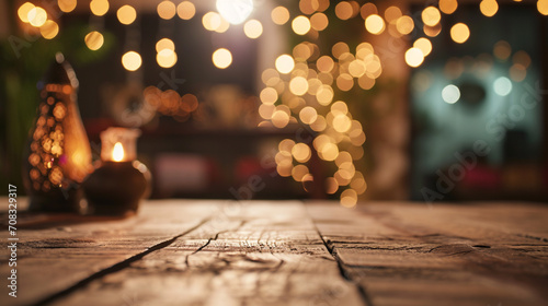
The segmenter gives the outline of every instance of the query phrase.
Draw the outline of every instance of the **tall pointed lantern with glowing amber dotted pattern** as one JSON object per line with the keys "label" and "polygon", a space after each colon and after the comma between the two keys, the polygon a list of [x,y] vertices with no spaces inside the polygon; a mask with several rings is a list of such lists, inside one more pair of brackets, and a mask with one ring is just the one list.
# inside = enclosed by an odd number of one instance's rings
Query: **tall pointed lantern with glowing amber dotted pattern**
{"label": "tall pointed lantern with glowing amber dotted pattern", "polygon": [[61,54],[38,90],[41,103],[23,164],[30,210],[78,212],[91,149],[77,104],[78,80]]}

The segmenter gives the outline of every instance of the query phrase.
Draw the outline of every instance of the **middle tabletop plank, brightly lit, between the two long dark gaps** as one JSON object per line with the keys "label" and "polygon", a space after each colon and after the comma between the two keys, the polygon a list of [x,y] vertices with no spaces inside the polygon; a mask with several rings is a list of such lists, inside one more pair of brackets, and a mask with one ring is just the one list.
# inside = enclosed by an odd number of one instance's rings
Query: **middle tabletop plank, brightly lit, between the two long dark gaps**
{"label": "middle tabletop plank, brightly lit, between the two long dark gaps", "polygon": [[124,303],[364,305],[300,202],[244,204],[54,305]]}

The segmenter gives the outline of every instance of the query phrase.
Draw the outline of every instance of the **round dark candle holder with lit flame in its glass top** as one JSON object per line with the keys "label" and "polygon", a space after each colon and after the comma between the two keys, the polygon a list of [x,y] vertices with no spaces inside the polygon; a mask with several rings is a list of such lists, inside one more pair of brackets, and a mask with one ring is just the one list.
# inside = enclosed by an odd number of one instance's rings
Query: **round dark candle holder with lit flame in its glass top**
{"label": "round dark candle holder with lit flame in its glass top", "polygon": [[150,172],[136,160],[140,131],[109,128],[101,132],[101,163],[83,183],[89,212],[136,213],[149,189]]}

